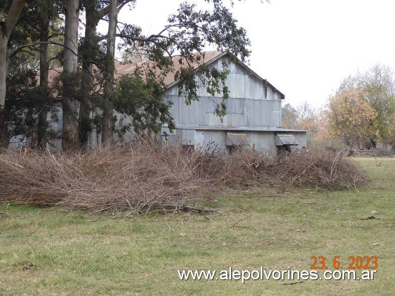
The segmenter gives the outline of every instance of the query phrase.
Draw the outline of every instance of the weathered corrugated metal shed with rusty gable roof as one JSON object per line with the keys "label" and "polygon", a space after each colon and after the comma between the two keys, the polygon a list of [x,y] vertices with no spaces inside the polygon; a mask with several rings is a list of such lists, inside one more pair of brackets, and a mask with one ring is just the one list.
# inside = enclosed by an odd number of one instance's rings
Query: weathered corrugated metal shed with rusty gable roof
{"label": "weathered corrugated metal shed with rusty gable roof", "polygon": [[[230,97],[225,101],[227,114],[221,120],[214,114],[215,107],[222,101],[221,93],[213,97],[202,83],[198,82],[198,101],[193,101],[187,106],[185,97],[178,95],[179,85],[174,80],[174,74],[181,67],[187,67],[187,63],[183,59],[180,60],[180,56],[173,57],[174,71],[164,77],[167,89],[163,100],[173,103],[170,111],[176,124],[173,133],[168,131],[166,125],[162,127],[162,134],[168,134],[168,143],[225,153],[232,153],[231,146],[243,146],[248,150],[259,149],[273,154],[277,153],[278,148],[305,147],[306,131],[281,128],[281,100],[285,98],[284,94],[266,79],[259,77],[233,54],[227,51],[206,52],[199,62],[190,66],[196,69],[205,63],[221,70],[223,61],[230,61],[230,73],[225,82]],[[145,63],[146,60],[126,65],[116,63],[116,77],[132,74],[136,66],[144,68]],[[57,70],[50,70],[50,79],[58,73]],[[127,124],[127,120],[124,123]]]}

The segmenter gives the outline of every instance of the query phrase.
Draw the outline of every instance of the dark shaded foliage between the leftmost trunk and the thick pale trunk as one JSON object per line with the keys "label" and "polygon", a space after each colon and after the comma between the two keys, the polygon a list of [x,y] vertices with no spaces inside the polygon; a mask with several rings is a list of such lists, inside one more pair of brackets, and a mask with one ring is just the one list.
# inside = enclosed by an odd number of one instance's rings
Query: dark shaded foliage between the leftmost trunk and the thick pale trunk
{"label": "dark shaded foliage between the leftmost trunk and the thick pale trunk", "polygon": [[[49,23],[49,30],[46,28],[45,32],[42,31],[45,25],[41,13],[43,9],[47,12],[45,24]],[[7,44],[10,64],[6,80],[6,123],[10,136],[21,135],[32,140],[37,137],[37,133],[49,135],[48,123],[42,124],[37,118],[40,113],[46,117],[48,109],[55,110],[47,100],[49,92],[46,83],[36,86],[38,80],[36,72],[40,70],[38,41],[62,43],[62,38],[59,36],[60,21],[57,16],[57,5],[54,1],[29,2],[22,10],[10,35]],[[46,35],[48,39],[42,39],[42,36]],[[52,66],[59,66],[55,57],[59,47],[59,45],[48,46],[48,58]],[[46,65],[43,67],[46,69]],[[31,144],[35,145],[33,142]]]}

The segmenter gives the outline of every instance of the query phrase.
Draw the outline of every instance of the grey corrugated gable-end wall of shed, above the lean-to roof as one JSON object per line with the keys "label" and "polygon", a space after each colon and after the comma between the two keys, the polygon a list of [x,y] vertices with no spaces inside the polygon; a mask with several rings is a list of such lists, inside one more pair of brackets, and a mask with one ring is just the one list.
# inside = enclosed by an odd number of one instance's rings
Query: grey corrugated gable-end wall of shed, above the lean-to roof
{"label": "grey corrugated gable-end wall of shed, above the lean-to roof", "polygon": [[[221,59],[212,65],[221,69]],[[229,69],[231,73],[227,85],[230,98],[226,101],[228,114],[224,116],[223,123],[213,114],[215,103],[212,102],[214,100],[220,103],[221,97],[210,97],[205,88],[201,87],[198,89],[200,101],[187,106],[185,98],[178,96],[178,87],[175,85],[166,90],[164,98],[174,102],[171,112],[176,125],[280,127],[280,95],[268,87],[265,98],[263,81],[239,65],[231,63]]]}

